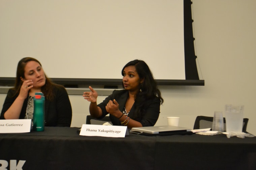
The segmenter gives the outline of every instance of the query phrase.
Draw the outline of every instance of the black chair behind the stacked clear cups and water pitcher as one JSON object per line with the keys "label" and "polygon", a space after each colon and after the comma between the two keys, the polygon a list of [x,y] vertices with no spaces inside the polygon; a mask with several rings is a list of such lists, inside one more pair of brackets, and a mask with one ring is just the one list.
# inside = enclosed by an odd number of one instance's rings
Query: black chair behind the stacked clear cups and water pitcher
{"label": "black chair behind the stacked clear cups and water pitcher", "polygon": [[[225,117],[223,118],[224,121],[224,131],[226,131],[226,119]],[[247,132],[247,124],[248,124],[249,119],[244,118],[243,122],[243,132]],[[213,117],[208,117],[208,116],[197,116],[194,124],[194,129],[206,129],[210,128],[212,130],[213,127]]]}

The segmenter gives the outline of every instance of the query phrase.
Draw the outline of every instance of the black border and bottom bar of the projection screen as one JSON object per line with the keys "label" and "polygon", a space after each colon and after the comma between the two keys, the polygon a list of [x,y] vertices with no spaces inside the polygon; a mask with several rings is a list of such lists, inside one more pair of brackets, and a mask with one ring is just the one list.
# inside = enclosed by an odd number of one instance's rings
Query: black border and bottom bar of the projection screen
{"label": "black border and bottom bar of the projection screen", "polygon": [[[172,86],[204,86],[204,80],[200,80],[196,65],[197,56],[195,55],[192,2],[184,0],[184,52],[185,52],[185,80],[180,79],[156,79],[158,85]],[[64,87],[78,87],[79,84],[102,84],[104,86],[118,86],[122,84],[122,79],[105,78],[51,78],[55,83]],[[0,85],[14,84],[15,77],[0,77]]]}

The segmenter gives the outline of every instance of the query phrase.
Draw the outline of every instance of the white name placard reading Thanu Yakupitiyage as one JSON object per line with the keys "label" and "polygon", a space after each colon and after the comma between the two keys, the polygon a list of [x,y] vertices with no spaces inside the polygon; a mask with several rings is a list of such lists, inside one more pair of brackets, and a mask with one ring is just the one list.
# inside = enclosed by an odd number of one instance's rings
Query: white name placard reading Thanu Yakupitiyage
{"label": "white name placard reading Thanu Yakupitiyage", "polygon": [[82,136],[125,137],[127,126],[106,126],[83,124],[80,134]]}

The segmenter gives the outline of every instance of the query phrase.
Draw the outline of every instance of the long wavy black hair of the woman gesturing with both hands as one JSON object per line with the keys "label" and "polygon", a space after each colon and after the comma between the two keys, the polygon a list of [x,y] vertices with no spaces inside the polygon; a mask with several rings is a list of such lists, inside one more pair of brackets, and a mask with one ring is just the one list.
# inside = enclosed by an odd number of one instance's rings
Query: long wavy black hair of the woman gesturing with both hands
{"label": "long wavy black hair of the woman gesturing with both hands", "polygon": [[149,99],[154,99],[157,96],[160,99],[161,104],[163,104],[164,100],[161,97],[160,90],[157,88],[157,83],[153,77],[153,74],[145,61],[133,60],[128,62],[122,69],[122,75],[124,76],[123,72],[125,67],[131,65],[135,66],[139,78],[144,79],[144,81],[140,84],[140,91],[138,91],[138,93],[135,95],[134,103],[135,113],[138,113],[137,117],[141,117],[147,108],[147,101]]}

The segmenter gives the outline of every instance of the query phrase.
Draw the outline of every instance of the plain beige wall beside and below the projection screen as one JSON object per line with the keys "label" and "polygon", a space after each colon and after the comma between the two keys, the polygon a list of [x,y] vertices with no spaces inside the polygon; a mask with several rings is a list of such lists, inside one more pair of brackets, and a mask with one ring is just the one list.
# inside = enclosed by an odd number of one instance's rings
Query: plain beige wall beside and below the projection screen
{"label": "plain beige wall beside and below the projection screen", "polygon": [[[255,0],[193,0],[197,57],[205,86],[160,86],[164,98],[156,125],[179,116],[180,126],[193,128],[197,115],[213,116],[225,104],[245,105],[247,131],[256,134],[256,6]],[[166,73],[167,74],[167,73]],[[3,103],[6,94],[0,94]],[[89,102],[70,95],[71,126],[81,127]],[[105,96],[99,96],[102,101]],[[1,106],[0,106],[1,109]]]}

